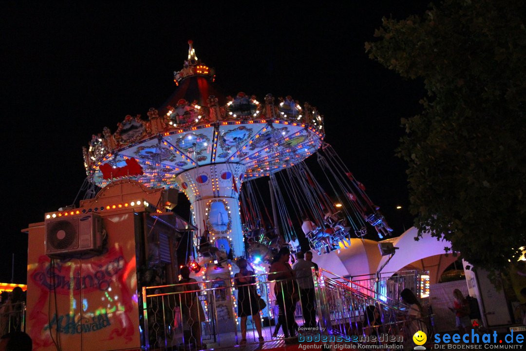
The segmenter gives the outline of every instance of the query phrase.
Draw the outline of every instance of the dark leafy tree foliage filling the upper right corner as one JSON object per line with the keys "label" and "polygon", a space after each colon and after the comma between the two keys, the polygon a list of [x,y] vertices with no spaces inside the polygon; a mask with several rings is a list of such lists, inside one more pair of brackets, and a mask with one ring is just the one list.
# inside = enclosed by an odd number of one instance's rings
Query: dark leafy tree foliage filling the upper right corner
{"label": "dark leafy tree foliage filling the upper right corner", "polygon": [[526,246],[526,5],[446,0],[423,16],[383,18],[370,58],[422,79],[422,113],[402,119],[419,235],[502,270]]}

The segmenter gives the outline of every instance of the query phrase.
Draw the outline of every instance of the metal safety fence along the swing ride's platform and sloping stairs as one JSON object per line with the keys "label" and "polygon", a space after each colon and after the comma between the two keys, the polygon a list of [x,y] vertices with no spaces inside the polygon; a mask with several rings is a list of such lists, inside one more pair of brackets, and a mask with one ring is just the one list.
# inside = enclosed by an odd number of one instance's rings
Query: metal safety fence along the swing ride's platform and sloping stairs
{"label": "metal safety fence along the swing ride's platform and sloping stairs", "polygon": [[408,317],[409,306],[377,298],[373,290],[325,269],[312,269],[300,285],[256,274],[143,287],[142,299],[146,349],[291,342],[308,333],[360,336],[358,343],[376,335],[380,343],[387,334],[410,339],[415,323],[426,330],[423,320]]}

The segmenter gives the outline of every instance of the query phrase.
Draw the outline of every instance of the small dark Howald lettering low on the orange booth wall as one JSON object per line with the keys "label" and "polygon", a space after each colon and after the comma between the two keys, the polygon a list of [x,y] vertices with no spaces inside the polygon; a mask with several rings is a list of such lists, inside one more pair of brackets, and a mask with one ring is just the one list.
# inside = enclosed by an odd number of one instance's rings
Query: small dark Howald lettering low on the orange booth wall
{"label": "small dark Howald lettering low on the orange booth wall", "polygon": [[58,329],[62,334],[80,334],[96,332],[99,329],[106,328],[110,325],[108,314],[100,314],[93,317],[79,317],[75,320],[75,315],[54,315],[49,324],[44,327],[44,330],[53,327]]}

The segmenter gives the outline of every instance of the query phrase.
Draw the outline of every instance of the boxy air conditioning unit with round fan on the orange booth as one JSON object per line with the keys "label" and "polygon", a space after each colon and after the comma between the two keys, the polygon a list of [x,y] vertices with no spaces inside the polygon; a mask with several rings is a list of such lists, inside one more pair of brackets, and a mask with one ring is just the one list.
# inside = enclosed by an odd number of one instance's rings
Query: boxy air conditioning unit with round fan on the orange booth
{"label": "boxy air conditioning unit with round fan on the orange booth", "polygon": [[102,250],[102,218],[83,216],[46,219],[46,255],[68,256]]}

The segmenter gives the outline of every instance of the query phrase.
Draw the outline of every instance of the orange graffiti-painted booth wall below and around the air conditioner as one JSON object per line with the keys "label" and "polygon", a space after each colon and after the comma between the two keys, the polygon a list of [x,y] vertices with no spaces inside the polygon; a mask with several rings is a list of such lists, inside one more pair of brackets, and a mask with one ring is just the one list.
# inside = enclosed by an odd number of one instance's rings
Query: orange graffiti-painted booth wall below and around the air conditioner
{"label": "orange graffiti-painted booth wall below and around the air conditioner", "polygon": [[29,227],[26,330],[34,350],[140,348],[134,216],[131,209],[102,215],[102,254],[53,263],[44,224]]}

